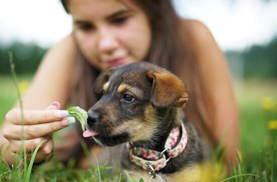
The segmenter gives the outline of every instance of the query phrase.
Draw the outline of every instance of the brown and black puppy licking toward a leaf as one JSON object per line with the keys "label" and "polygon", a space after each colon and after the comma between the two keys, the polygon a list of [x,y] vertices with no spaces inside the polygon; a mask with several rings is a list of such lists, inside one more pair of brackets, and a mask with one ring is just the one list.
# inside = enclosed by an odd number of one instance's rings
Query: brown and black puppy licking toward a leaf
{"label": "brown and black puppy licking toward a leaf", "polygon": [[[92,136],[104,146],[132,142],[133,147],[161,152],[170,131],[182,121],[187,145],[156,173],[165,181],[200,179],[198,164],[209,156],[209,149],[182,118],[181,108],[188,101],[188,93],[177,76],[150,63],[133,63],[102,72],[94,91],[101,98],[88,111],[86,137]],[[129,160],[126,147],[121,161],[133,178],[150,179],[148,171]]]}

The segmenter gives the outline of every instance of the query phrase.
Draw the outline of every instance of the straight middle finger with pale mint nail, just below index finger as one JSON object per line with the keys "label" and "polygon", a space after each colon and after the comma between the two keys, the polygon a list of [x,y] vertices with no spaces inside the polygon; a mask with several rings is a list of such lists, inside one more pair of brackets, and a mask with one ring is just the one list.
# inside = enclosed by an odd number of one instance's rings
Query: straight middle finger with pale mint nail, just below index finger
{"label": "straight middle finger with pale mint nail, just below index finger", "polygon": [[[41,123],[35,125],[12,125],[8,126],[9,131],[4,131],[3,135],[8,139],[20,140],[24,138],[25,140],[39,138],[51,134],[54,131],[65,128],[66,126],[75,122],[74,117],[67,117],[61,121],[53,121],[49,123]],[[22,133],[23,127],[23,133]]]}

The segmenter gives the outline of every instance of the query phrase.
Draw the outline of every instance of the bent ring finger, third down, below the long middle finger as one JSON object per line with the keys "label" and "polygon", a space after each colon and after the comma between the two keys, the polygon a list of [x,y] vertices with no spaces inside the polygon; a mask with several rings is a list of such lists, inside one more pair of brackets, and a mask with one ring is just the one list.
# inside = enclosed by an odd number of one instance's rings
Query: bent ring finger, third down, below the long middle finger
{"label": "bent ring finger, third down, below the long middle finger", "polygon": [[[35,139],[29,139],[29,140],[10,140],[11,144],[11,150],[12,152],[19,152],[22,144],[23,148],[26,148],[26,151],[32,151],[35,150],[36,147],[43,141],[43,140],[49,140],[49,137],[40,137],[40,138],[35,138]],[[23,142],[23,143],[22,143]],[[46,142],[43,142],[39,148],[44,147]]]}

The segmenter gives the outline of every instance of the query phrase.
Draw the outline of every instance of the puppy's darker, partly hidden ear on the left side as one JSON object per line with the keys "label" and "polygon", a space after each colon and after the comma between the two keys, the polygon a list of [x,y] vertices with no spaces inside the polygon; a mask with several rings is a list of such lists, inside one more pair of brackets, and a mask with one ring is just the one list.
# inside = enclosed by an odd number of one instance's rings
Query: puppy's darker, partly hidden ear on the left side
{"label": "puppy's darker, partly hidden ear on the left side", "polygon": [[107,70],[100,73],[94,83],[94,92],[99,95],[102,93],[103,85],[109,80],[109,76],[114,68],[108,68]]}

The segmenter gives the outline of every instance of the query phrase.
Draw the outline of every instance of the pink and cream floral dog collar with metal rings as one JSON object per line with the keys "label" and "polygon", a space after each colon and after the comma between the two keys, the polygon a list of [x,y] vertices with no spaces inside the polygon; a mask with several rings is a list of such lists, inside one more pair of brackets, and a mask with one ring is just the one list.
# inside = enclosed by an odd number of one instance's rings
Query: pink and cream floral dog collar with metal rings
{"label": "pink and cream floral dog collar with metal rings", "polygon": [[[183,122],[181,122],[182,136],[180,137],[180,127],[173,128],[165,143],[165,149],[163,151],[156,151],[146,148],[137,148],[133,144],[127,143],[129,149],[129,159],[136,165],[140,165],[147,171],[156,171],[164,168],[166,163],[174,157],[177,157],[182,153],[187,144],[187,132]],[[179,141],[179,142],[178,142]],[[178,143],[177,143],[178,142]],[[165,152],[168,155],[166,159]]]}

